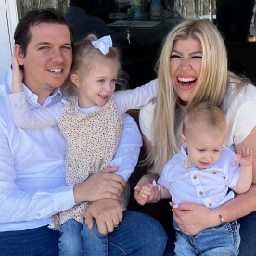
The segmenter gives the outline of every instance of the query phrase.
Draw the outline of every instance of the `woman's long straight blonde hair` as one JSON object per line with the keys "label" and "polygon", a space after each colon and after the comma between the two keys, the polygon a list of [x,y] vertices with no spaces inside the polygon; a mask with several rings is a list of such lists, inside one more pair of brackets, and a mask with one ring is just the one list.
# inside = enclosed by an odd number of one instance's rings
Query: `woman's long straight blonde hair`
{"label": "woman's long straight blonde hair", "polygon": [[210,21],[185,21],[169,32],[156,64],[159,88],[153,119],[153,145],[146,159],[153,173],[160,173],[166,162],[179,150],[174,134],[175,109],[179,97],[174,88],[174,77],[170,73],[170,56],[177,40],[189,38],[200,43],[202,63],[197,86],[187,102],[188,108],[202,101],[222,106],[229,78],[237,77],[227,70],[224,40]]}

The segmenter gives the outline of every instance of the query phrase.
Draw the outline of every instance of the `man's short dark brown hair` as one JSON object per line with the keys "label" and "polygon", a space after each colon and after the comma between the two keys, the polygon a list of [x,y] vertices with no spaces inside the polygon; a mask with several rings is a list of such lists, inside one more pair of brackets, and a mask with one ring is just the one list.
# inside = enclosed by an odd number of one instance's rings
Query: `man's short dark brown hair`
{"label": "man's short dark brown hair", "polygon": [[40,23],[62,24],[66,25],[70,31],[71,44],[73,45],[73,35],[70,24],[64,15],[55,9],[39,9],[27,12],[20,20],[14,32],[14,43],[20,45],[24,56],[26,55],[27,46],[31,41],[30,28]]}

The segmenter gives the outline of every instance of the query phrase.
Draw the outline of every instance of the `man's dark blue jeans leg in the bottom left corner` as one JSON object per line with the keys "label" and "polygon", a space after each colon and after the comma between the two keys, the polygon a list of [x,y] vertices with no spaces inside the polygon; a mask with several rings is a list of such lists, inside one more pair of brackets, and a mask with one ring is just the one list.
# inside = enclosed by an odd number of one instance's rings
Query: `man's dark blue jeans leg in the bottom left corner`
{"label": "man's dark blue jeans leg in the bottom left corner", "polygon": [[1,256],[58,256],[60,233],[47,226],[0,232]]}

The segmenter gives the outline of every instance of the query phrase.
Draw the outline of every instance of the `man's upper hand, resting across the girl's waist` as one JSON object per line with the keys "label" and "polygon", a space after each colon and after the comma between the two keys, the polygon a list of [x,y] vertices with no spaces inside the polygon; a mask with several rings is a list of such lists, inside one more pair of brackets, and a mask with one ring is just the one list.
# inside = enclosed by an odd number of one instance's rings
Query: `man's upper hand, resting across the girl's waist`
{"label": "man's upper hand, resting across the girl's waist", "polygon": [[118,167],[107,167],[93,174],[86,181],[74,185],[74,200],[76,203],[93,202],[101,199],[119,200],[125,181],[121,176],[113,174]]}

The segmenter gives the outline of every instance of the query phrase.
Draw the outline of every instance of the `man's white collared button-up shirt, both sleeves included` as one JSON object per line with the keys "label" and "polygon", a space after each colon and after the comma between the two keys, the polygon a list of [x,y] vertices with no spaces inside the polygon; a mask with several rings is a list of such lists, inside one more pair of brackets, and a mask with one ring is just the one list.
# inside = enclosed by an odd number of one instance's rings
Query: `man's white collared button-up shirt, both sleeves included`
{"label": "man's white collared button-up shirt, both sleeves included", "polygon": [[[53,214],[74,206],[73,186],[65,183],[64,137],[58,126],[22,130],[14,125],[8,100],[11,77],[9,70],[0,81],[0,231],[50,224]],[[30,108],[45,108],[61,99],[57,91],[40,106],[28,89],[26,96]],[[112,165],[131,174],[142,141],[130,117],[123,120],[123,132]]]}

